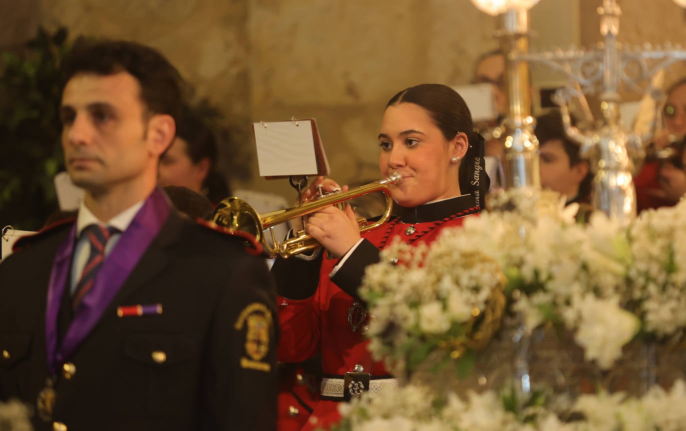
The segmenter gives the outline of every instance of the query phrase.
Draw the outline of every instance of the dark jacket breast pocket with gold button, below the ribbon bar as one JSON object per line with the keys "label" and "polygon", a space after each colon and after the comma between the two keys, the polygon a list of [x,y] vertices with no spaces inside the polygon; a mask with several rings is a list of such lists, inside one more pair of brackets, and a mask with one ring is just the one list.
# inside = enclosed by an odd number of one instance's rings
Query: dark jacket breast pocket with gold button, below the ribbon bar
{"label": "dark jacket breast pocket with gold button, below the ribbon bar", "polygon": [[147,415],[182,415],[196,405],[202,352],[189,336],[132,334],[123,354],[145,391]]}

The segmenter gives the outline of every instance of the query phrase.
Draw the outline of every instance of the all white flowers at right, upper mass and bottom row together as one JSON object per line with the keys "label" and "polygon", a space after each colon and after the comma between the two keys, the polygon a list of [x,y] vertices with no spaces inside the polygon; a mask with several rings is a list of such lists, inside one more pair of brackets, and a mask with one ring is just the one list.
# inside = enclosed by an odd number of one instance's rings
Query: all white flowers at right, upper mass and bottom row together
{"label": "all white flowers at right, upper mass and bottom row together", "polygon": [[[577,224],[576,208],[536,206],[530,191],[497,198],[500,207],[519,211],[484,211],[429,246],[393,243],[368,268],[361,294],[373,316],[370,351],[390,371],[411,375],[424,362],[435,365],[436,353],[443,362],[466,358],[479,347],[478,336],[492,335],[475,327],[497,329],[484,317],[497,314],[494,292],[503,286],[506,312],[525,331],[544,323],[565,328],[584,359],[602,370],[622,358],[637,334],[683,340],[686,200],[622,226],[601,213]],[[421,386],[426,375],[418,376],[342,404],[335,430],[676,431],[686,423],[686,409],[679,408],[686,406],[683,380],[670,380],[669,391],[651,386],[641,397],[600,388],[576,399],[539,393],[522,404],[513,389],[456,395],[449,385],[448,391]]]}

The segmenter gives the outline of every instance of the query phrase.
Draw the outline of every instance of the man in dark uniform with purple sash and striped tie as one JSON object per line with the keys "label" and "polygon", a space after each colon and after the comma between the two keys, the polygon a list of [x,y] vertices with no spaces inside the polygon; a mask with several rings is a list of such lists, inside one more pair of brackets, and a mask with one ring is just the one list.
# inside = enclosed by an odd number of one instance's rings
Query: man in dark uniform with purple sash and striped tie
{"label": "man in dark uniform with purple sash and striped tie", "polygon": [[191,222],[156,187],[178,72],[126,42],[75,47],[62,145],[76,220],[0,264],[0,401],[36,430],[272,430],[274,293],[259,244]]}

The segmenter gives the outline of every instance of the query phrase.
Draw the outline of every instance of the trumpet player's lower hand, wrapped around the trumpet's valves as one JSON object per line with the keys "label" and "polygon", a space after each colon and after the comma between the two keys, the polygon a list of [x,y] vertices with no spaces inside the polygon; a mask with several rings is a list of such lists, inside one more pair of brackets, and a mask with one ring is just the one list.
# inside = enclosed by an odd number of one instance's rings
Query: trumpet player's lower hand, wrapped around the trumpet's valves
{"label": "trumpet player's lower hand, wrapped around the trumpet's valves", "polygon": [[311,214],[305,222],[305,231],[336,259],[353,248],[360,238],[355,211],[348,204],[345,211],[336,207],[326,207]]}

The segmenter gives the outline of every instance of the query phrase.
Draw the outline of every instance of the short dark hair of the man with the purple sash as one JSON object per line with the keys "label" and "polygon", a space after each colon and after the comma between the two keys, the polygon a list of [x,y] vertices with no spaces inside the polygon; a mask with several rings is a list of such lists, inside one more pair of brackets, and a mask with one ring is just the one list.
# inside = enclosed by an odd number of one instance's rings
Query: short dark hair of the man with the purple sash
{"label": "short dark hair of the man with the purple sash", "polygon": [[130,73],[141,86],[141,100],[147,113],[168,114],[181,119],[182,78],[158,51],[123,40],[80,39],[62,61],[63,85],[79,73],[114,75]]}

